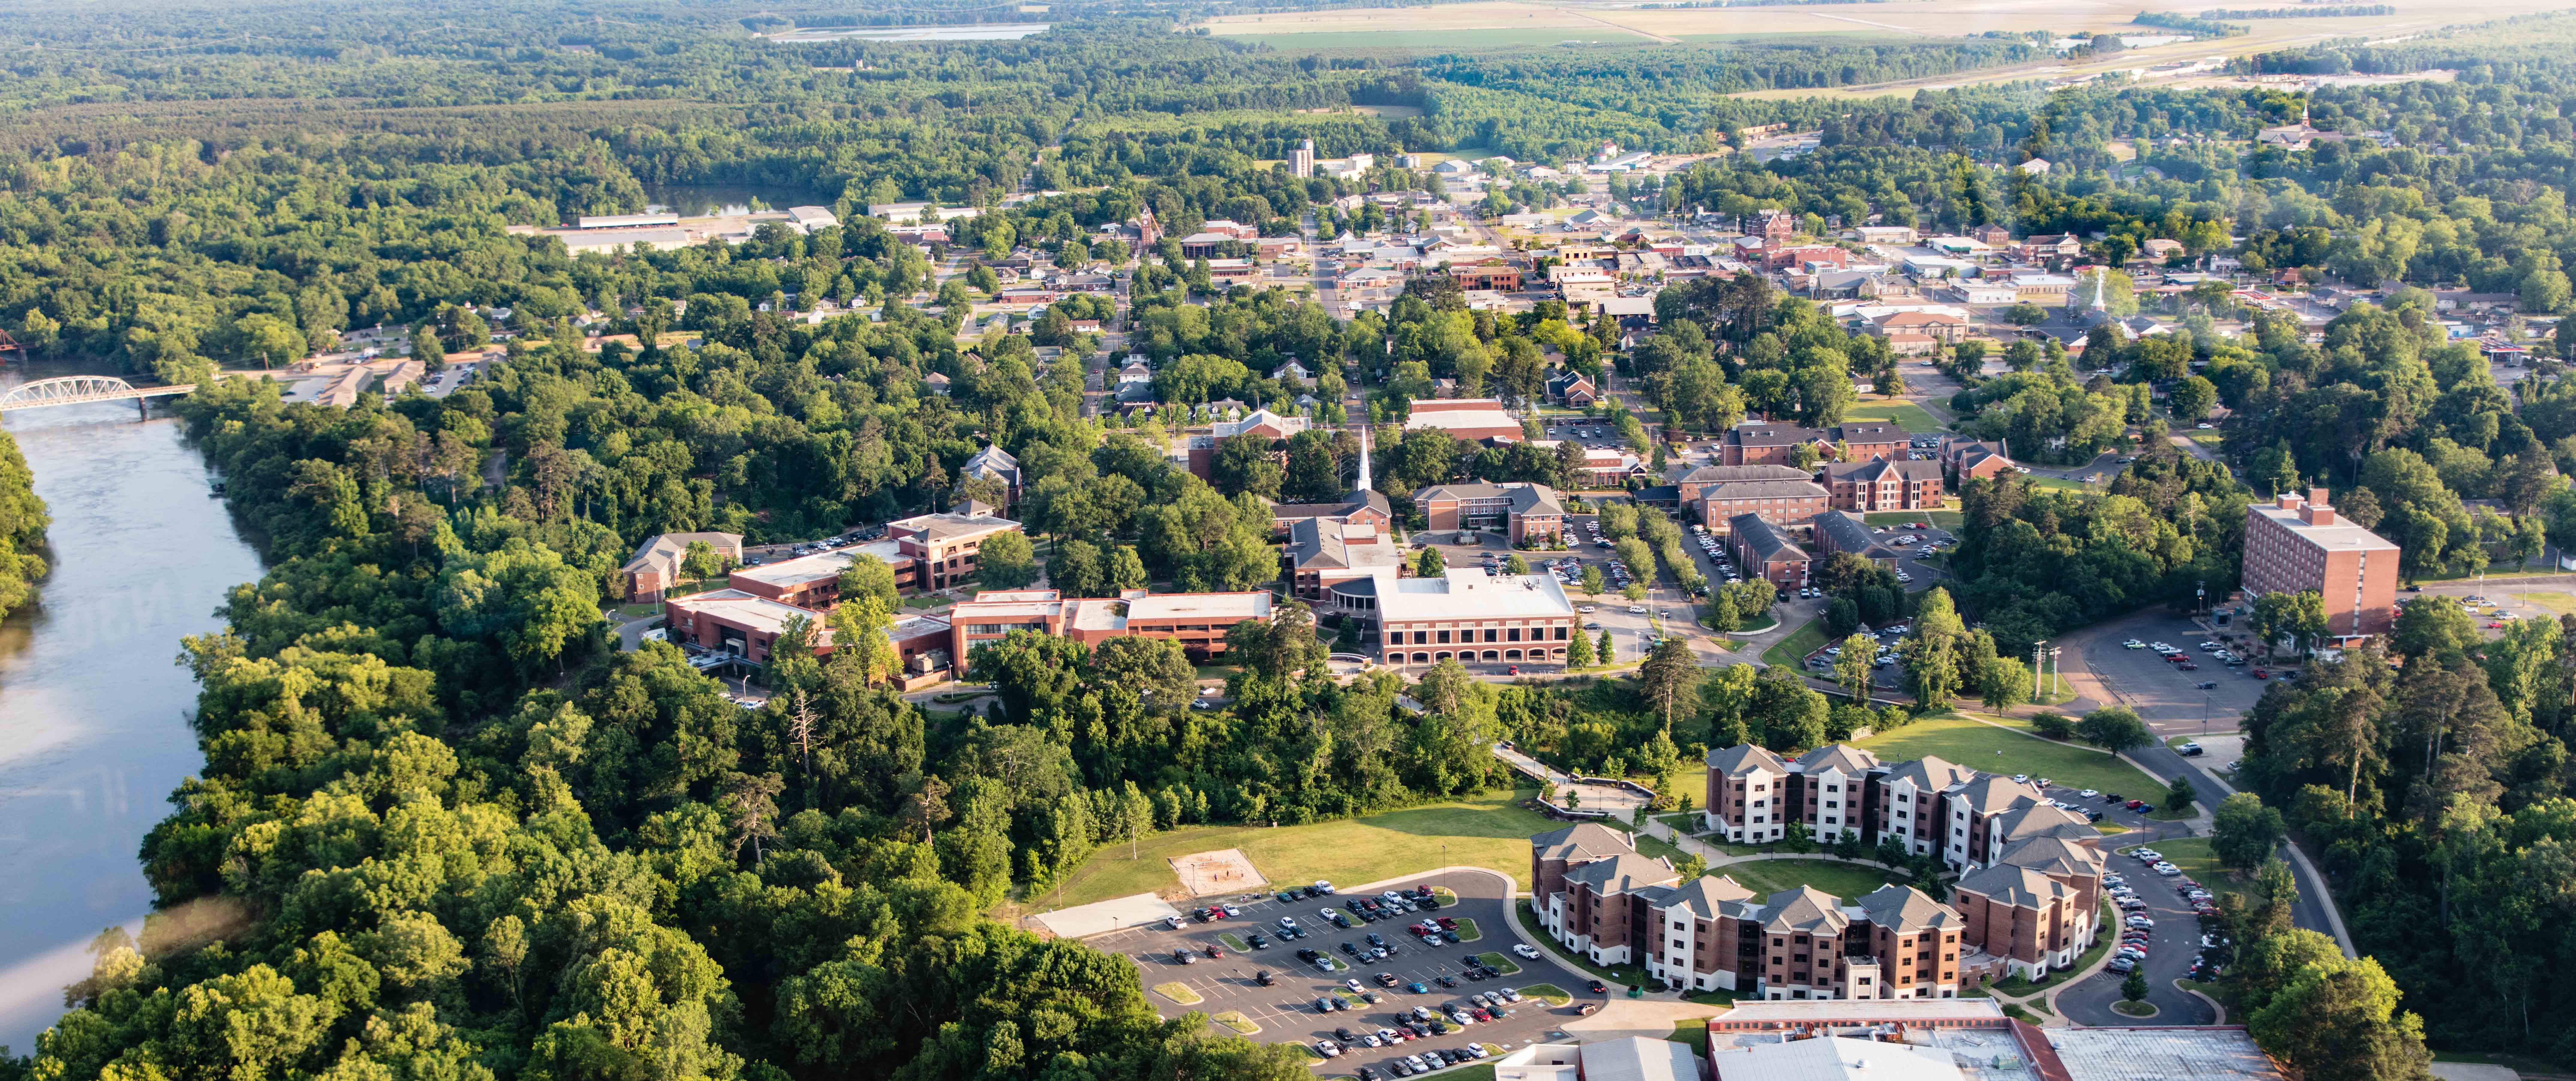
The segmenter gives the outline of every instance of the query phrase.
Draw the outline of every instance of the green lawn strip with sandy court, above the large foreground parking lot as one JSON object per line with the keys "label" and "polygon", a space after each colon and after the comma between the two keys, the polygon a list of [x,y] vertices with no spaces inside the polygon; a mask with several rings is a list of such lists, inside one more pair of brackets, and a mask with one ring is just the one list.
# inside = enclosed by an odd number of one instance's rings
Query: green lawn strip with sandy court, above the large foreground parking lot
{"label": "green lawn strip with sandy court, above the large foreground parking lot", "polygon": [[1128,860],[1126,844],[1092,852],[1056,891],[1025,898],[1028,906],[1061,909],[1177,885],[1167,860],[1244,849],[1252,867],[1273,883],[1376,883],[1435,867],[1445,860],[1461,867],[1494,867],[1530,888],[1530,834],[1558,824],[1522,811],[1533,790],[1486,793],[1453,803],[1376,813],[1368,818],[1319,821],[1311,826],[1190,826],[1151,834]]}

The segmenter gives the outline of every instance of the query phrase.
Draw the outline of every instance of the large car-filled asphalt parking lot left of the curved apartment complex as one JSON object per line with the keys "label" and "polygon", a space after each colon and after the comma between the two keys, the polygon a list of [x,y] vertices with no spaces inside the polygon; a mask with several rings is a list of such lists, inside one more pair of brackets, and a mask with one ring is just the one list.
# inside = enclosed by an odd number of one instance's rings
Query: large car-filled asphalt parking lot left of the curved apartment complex
{"label": "large car-filled asphalt parking lot left of the curved apartment complex", "polygon": [[[1303,1042],[1309,1050],[1316,1040],[1342,1042],[1337,1030],[1350,1030],[1352,1037],[1376,1035],[1378,1030],[1401,1030],[1399,1012],[1412,1012],[1414,1006],[1430,1006],[1440,1012],[1448,1004],[1463,1004],[1468,996],[1497,988],[1528,988],[1528,986],[1553,986],[1574,996],[1569,1006],[1548,1006],[1538,999],[1525,996],[1517,1004],[1507,1004],[1510,1017],[1497,1022],[1476,1022],[1463,1030],[1450,1027],[1448,1035],[1409,1037],[1388,1048],[1368,1048],[1352,1040],[1340,1058],[1332,1060],[1332,1073],[1355,1073],[1360,1066],[1373,1066],[1381,1076],[1394,1076],[1388,1063],[1422,1053],[1427,1048],[1455,1050],[1471,1042],[1494,1045],[1502,1050],[1515,1050],[1530,1042],[1543,1042],[1561,1037],[1558,1027],[1577,1017],[1584,1001],[1602,1001],[1602,996],[1587,993],[1587,975],[1577,975],[1540,952],[1540,957],[1520,957],[1512,947],[1520,942],[1512,934],[1512,914],[1507,898],[1507,880],[1489,873],[1435,873],[1419,878],[1404,878],[1396,883],[1378,885],[1368,891],[1376,896],[1386,888],[1412,891],[1414,885],[1445,888],[1458,896],[1458,903],[1440,906],[1425,914],[1396,914],[1376,924],[1352,921],[1355,927],[1342,929],[1324,919],[1324,911],[1342,911],[1342,906],[1360,891],[1345,891],[1321,898],[1298,898],[1298,903],[1280,903],[1273,893],[1257,893],[1234,901],[1242,911],[1234,919],[1221,919],[1211,924],[1190,921],[1182,916],[1177,932],[1164,927],[1128,929],[1115,934],[1103,934],[1090,939],[1092,947],[1108,952],[1123,952],[1136,960],[1144,970],[1146,999],[1154,1001],[1164,1017],[1180,1017],[1185,1012],[1224,1014],[1239,1012],[1247,1022],[1257,1024],[1260,1032],[1252,1040],[1260,1042]],[[1206,898],[1203,898],[1206,901]],[[1198,903],[1182,903],[1182,911]],[[1291,916],[1306,929],[1303,939],[1278,939],[1280,916]],[[1461,934],[1463,942],[1425,947],[1417,942],[1406,927],[1419,919],[1453,916],[1461,919],[1461,932],[1473,924],[1473,937]],[[1236,952],[1231,945],[1221,942],[1231,934],[1249,942],[1255,932],[1262,932],[1270,945],[1267,950]],[[1352,950],[1368,950],[1368,934],[1378,934],[1394,947],[1391,957],[1355,963]],[[1208,957],[1208,947],[1224,952],[1224,957]],[[1195,963],[1172,960],[1175,950],[1195,955]],[[1296,950],[1319,950],[1332,957],[1337,968],[1332,973],[1316,970],[1311,963],[1296,957]],[[1499,978],[1468,978],[1471,957],[1499,952],[1512,968],[1504,968]],[[1270,973],[1273,986],[1260,986],[1260,973]],[[1394,986],[1381,986],[1378,973],[1394,975]],[[1345,981],[1358,981],[1360,991],[1352,991]],[[1448,981],[1450,986],[1443,986]],[[1151,988],[1162,983],[1180,983],[1198,993],[1198,1004],[1175,1004]],[[1419,983],[1422,991],[1412,991]],[[1337,1009],[1332,1014],[1316,1012],[1316,999],[1337,999],[1350,1009]],[[1378,1001],[1365,1001],[1363,996],[1376,996]],[[1486,1058],[1492,1060],[1492,1058]]]}

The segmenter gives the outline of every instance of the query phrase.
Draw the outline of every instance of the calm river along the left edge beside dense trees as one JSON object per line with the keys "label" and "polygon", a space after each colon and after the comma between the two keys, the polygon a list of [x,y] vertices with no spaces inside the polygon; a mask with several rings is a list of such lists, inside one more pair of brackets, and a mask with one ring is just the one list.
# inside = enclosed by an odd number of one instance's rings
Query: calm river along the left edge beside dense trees
{"label": "calm river along the left edge beside dense trees", "polygon": [[[0,394],[98,368],[0,365]],[[219,631],[214,605],[260,559],[165,404],[0,414],[54,515],[41,602],[0,623],[0,1045],[28,1053],[88,975],[103,927],[152,909],[137,857],[204,767],[180,636]]]}

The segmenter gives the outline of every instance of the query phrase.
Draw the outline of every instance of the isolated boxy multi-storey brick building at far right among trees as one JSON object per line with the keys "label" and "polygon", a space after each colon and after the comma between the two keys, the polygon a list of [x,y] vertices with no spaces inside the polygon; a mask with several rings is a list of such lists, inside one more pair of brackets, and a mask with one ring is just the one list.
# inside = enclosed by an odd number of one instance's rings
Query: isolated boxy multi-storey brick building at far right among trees
{"label": "isolated boxy multi-storey brick building at far right among trees", "polygon": [[2388,633],[2398,615],[2398,546],[2334,512],[2326,489],[2282,492],[2246,507],[2244,592],[2316,589],[2326,633],[2352,643]]}

